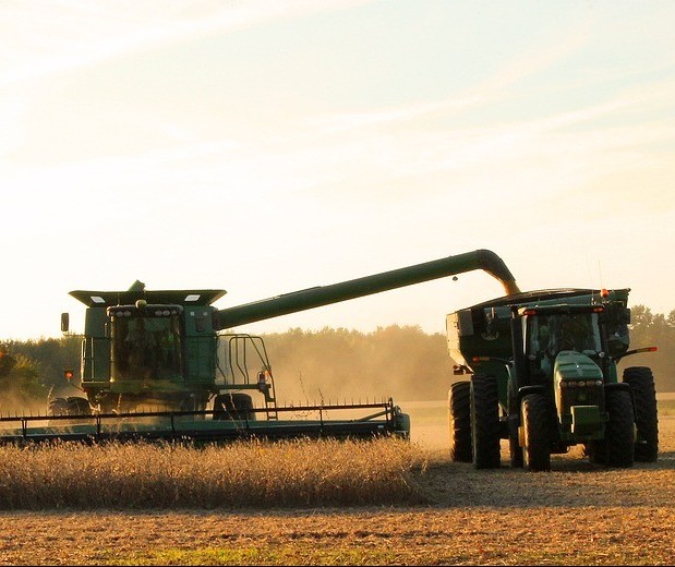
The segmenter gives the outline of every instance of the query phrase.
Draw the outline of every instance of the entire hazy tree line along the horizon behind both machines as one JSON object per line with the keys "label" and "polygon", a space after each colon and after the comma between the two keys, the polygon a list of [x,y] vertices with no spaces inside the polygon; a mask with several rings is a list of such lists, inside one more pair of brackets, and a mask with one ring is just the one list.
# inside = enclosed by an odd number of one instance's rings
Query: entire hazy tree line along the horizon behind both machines
{"label": "entire hazy tree line along the horizon behind both machines", "polygon": [[[630,348],[656,352],[626,357],[626,366],[650,366],[658,391],[675,391],[675,311],[667,316],[631,307]],[[444,334],[419,326],[377,327],[371,333],[324,327],[263,335],[277,399],[281,402],[445,399],[455,382]],[[0,413],[43,403],[67,384],[64,370],[80,372],[81,338],[0,341]]]}

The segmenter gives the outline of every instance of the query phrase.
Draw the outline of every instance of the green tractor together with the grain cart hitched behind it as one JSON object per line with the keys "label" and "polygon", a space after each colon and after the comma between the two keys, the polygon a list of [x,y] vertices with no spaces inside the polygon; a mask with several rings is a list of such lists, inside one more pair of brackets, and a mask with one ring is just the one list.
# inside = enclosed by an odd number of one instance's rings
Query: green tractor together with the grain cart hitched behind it
{"label": "green tractor together with the grain cart hitched behind it", "polygon": [[617,363],[629,350],[629,289],[517,293],[447,315],[457,374],[448,394],[450,455],[475,468],[551,469],[551,455],[581,445],[592,462],[631,467],[659,453],[649,367]]}

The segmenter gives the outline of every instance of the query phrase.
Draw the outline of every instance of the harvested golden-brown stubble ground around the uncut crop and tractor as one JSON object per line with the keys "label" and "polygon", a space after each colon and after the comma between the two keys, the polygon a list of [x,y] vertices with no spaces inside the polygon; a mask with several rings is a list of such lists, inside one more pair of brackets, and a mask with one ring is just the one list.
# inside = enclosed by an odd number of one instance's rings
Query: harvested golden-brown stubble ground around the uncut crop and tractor
{"label": "harvested golden-brown stubble ground around the uncut crop and tractor", "polygon": [[[575,448],[554,456],[550,473],[510,469],[506,446],[498,470],[451,463],[444,403],[401,403],[425,462],[406,476],[417,503],[402,490],[389,502],[376,494],[366,504],[340,506],[7,509],[0,512],[0,564],[673,565],[675,399],[660,396],[659,403],[658,462],[604,469]],[[408,466],[398,449],[378,455],[381,449],[373,446],[372,468],[363,469],[371,472],[358,483],[377,485],[377,471]],[[322,456],[318,466],[330,469],[334,457],[338,469],[338,453]],[[364,458],[353,454],[354,475],[362,474]],[[301,470],[293,483],[316,482]],[[106,479],[98,482],[103,486]]]}

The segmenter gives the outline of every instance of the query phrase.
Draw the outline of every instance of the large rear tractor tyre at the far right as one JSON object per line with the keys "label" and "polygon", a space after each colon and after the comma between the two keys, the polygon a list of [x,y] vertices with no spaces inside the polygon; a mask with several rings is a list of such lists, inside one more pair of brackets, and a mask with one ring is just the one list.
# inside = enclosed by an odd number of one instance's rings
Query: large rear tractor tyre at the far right
{"label": "large rear tractor tyre at the far right", "polygon": [[635,460],[655,462],[659,458],[659,411],[654,376],[647,366],[631,366],[624,371],[624,382],[630,385],[635,402],[638,429]]}

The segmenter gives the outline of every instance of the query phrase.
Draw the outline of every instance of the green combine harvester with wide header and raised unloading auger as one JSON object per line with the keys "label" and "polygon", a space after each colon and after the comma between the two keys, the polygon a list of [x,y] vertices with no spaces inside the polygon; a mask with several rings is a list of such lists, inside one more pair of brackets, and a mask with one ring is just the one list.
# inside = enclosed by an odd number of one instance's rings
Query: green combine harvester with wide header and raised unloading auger
{"label": "green combine harvester with wide header and raised unloading auger", "polygon": [[146,290],[136,281],[125,291],[71,291],[86,305],[82,395],[51,398],[45,415],[0,417],[0,442],[407,437],[410,420],[391,399],[277,405],[263,339],[228,330],[475,269],[497,278],[505,293],[519,291],[489,250],[221,310],[213,305],[226,293],[219,289]]}

